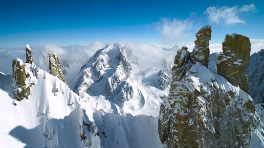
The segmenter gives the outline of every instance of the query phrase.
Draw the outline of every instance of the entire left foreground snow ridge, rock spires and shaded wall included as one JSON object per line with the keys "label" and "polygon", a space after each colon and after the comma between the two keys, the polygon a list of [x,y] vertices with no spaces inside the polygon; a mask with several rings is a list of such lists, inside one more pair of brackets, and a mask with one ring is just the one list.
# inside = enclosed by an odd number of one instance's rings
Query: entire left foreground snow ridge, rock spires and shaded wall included
{"label": "entire left foreground snow ridge, rock spires and shaded wall included", "polygon": [[0,115],[1,148],[161,147],[157,117],[98,111],[30,59],[14,59],[12,76],[0,73],[1,111],[8,111]]}

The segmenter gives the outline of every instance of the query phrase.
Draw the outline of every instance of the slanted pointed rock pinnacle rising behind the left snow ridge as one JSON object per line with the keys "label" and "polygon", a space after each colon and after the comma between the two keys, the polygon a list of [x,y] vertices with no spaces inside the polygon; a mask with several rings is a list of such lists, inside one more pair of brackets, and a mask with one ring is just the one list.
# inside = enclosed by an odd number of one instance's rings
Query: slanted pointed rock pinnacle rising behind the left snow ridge
{"label": "slanted pointed rock pinnacle rising behind the left snow ridge", "polygon": [[61,67],[59,57],[56,54],[52,54],[52,51],[48,50],[49,58],[49,74],[52,74],[62,80],[67,86],[67,81],[64,75],[64,71]]}

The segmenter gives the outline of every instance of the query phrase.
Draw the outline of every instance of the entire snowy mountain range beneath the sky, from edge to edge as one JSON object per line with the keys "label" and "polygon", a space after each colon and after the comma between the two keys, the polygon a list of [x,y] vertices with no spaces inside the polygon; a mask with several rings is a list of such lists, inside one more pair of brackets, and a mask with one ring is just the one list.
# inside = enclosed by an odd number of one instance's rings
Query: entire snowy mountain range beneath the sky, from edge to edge
{"label": "entire snowy mountain range beneath the sky, from edge to edge", "polygon": [[0,73],[0,111],[9,111],[0,148],[261,147],[264,50],[250,57],[249,38],[232,34],[210,55],[211,33],[202,27],[192,52],[160,48],[176,53],[174,64],[170,53],[147,69],[130,47],[108,44],[76,72],[73,91],[58,55],[33,60],[26,45],[25,62]]}

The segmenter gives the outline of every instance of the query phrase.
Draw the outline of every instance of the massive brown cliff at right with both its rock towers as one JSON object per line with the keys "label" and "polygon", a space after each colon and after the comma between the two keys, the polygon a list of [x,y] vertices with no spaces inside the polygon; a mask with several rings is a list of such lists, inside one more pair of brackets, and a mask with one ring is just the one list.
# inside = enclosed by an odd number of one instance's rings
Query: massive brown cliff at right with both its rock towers
{"label": "massive brown cliff at right with both its rock towers", "polygon": [[207,68],[211,27],[196,37],[193,52],[182,47],[175,56],[169,96],[160,107],[161,143],[164,148],[247,148],[257,118],[245,75],[249,38],[226,35],[215,73]]}

